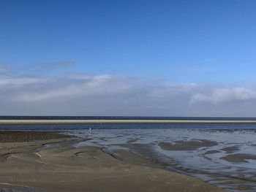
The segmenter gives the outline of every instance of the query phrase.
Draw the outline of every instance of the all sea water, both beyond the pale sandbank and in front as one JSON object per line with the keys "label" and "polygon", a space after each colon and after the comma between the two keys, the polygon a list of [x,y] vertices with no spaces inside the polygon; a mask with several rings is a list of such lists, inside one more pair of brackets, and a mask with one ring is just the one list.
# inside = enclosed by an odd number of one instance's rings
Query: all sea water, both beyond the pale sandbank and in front
{"label": "all sea water, both beyond the pale sandbank and in front", "polygon": [[[4,120],[256,120],[256,118],[0,116]],[[91,132],[89,129],[91,128]],[[61,131],[89,138],[74,147],[130,150],[164,169],[227,191],[256,191],[256,124],[0,125],[0,130]]]}

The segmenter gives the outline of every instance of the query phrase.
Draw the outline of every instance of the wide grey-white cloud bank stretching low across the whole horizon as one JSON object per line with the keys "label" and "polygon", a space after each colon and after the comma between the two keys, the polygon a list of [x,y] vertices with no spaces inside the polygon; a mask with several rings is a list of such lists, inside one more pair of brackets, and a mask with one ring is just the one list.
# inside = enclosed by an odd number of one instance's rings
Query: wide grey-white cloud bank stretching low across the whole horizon
{"label": "wide grey-white cloud bank stretching low across the whole horizon", "polygon": [[0,115],[256,116],[256,88],[92,74],[0,76]]}

